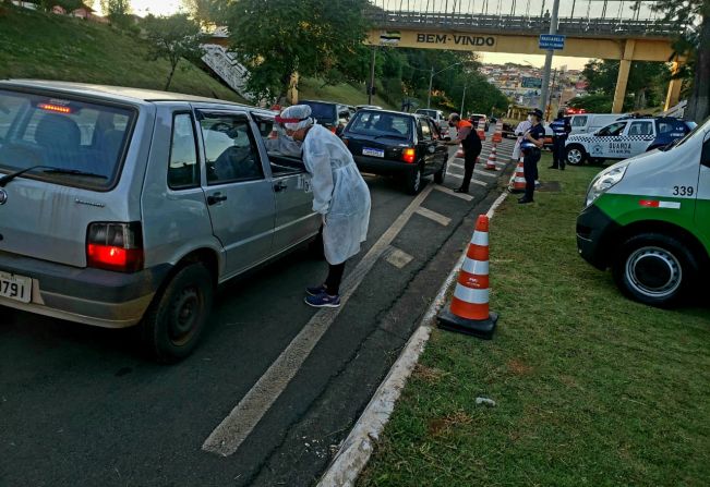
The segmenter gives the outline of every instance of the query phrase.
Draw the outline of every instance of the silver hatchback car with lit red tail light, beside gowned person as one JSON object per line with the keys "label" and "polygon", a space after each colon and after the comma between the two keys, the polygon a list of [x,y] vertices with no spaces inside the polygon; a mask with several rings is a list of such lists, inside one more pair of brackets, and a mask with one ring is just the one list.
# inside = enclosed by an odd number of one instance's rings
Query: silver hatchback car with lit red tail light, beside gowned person
{"label": "silver hatchback car with lit red tail light, beside gowned person", "polygon": [[274,115],[0,82],[0,307],[140,325],[157,360],[186,356],[219,283],[317,238],[302,161],[267,153]]}

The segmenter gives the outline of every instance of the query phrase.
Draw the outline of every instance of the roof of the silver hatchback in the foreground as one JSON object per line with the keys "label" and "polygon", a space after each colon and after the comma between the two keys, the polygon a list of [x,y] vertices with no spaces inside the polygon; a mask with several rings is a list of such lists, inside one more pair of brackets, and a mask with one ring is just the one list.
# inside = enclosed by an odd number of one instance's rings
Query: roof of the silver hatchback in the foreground
{"label": "roof of the silver hatchback in the foreground", "polygon": [[191,102],[205,102],[205,104],[220,104],[231,105],[240,108],[248,108],[251,111],[261,111],[263,113],[274,113],[258,107],[251,107],[249,105],[238,104],[236,101],[220,100],[217,98],[207,98],[195,95],[186,95],[182,93],[160,92],[156,89],[132,88],[128,86],[111,86],[111,85],[97,85],[91,83],[75,83],[75,82],[57,82],[45,80],[2,80],[0,81],[0,88],[34,88],[34,89],[48,89],[55,92],[62,92],[71,95],[94,95],[99,97],[109,97],[122,100],[133,101],[191,101]]}

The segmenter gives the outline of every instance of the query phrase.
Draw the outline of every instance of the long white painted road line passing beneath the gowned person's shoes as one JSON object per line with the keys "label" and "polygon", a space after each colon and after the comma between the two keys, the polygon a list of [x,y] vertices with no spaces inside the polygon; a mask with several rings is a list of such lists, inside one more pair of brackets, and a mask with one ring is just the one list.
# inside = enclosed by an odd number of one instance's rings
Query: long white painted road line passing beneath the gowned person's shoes
{"label": "long white painted road line passing beneath the gowned person's shoes", "polygon": [[370,248],[348,275],[340,295],[340,307],[322,308],[309,320],[291,343],[281,352],[264,375],[234,406],[229,415],[207,437],[202,449],[222,456],[234,453],[249,437],[264,414],[272,407],[281,392],[296,376],[313,351],[313,348],[328,330],[340,311],[345,307],[352,293],[358,289],[365,275],[372,269],[377,259],[387,249],[417,208],[432,192],[430,185],[417,196],[405,211],[395,220],[387,231]]}

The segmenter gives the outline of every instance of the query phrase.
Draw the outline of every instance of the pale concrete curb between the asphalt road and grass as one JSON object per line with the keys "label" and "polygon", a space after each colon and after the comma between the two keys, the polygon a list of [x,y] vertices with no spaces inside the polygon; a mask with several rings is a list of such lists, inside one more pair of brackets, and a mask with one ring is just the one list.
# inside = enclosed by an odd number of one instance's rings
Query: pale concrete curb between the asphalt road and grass
{"label": "pale concrete curb between the asphalt road and grass", "polygon": [[[486,216],[493,218],[493,214],[508,195],[507,191],[501,193],[497,199],[489,208]],[[446,277],[436,294],[436,297],[422,317],[419,328],[407,341],[405,349],[397,357],[397,361],[387,373],[370,403],[364,409],[350,434],[342,442],[340,450],[333,459],[328,470],[323,474],[316,487],[351,487],[354,486],[360,472],[370,460],[374,443],[380,439],[389,416],[395,409],[407,379],[411,375],[419,356],[424,350],[432,332],[431,322],[434,320],[438,309],[446,303],[446,292],[452,285],[466,258],[466,248],[454,265],[454,268]]]}

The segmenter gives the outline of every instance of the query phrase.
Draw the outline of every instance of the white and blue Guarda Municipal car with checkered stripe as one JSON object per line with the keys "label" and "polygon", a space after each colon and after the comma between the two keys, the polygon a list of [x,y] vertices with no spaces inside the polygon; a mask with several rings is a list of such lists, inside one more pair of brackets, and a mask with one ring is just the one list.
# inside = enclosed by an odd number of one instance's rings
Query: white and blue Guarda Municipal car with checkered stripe
{"label": "white and blue Guarda Municipal car with checkered stripe", "polygon": [[565,144],[567,163],[627,159],[666,146],[694,127],[694,122],[671,117],[622,118],[592,134],[569,135]]}

